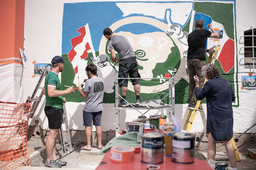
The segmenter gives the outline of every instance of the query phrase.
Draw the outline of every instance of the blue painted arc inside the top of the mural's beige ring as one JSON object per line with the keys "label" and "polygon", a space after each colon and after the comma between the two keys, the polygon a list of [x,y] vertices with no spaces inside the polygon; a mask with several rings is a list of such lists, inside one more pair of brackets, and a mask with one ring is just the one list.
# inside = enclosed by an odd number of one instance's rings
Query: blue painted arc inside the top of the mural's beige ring
{"label": "blue painted arc inside the top of the mural's beige ring", "polygon": [[149,32],[165,32],[153,25],[150,24],[144,24],[144,23],[132,23],[132,24],[126,24],[114,31],[114,33],[124,31],[124,32],[131,32],[133,34],[139,35],[143,33],[149,33]]}

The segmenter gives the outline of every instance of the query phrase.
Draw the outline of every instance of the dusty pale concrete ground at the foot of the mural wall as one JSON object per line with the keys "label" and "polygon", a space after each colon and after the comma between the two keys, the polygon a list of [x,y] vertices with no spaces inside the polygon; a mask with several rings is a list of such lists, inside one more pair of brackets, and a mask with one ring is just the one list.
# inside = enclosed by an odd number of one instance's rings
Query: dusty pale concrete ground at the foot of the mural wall
{"label": "dusty pale concrete ground at the foot of the mural wall", "polygon": [[[30,153],[30,157],[34,157],[33,153],[36,153],[35,151],[41,149],[44,150],[45,143],[40,139],[30,139],[28,141],[28,150]],[[85,143],[79,143],[79,144],[72,144],[72,147],[75,148],[75,151],[69,153],[65,157],[63,157],[61,160],[68,162],[66,166],[62,166],[62,168],[72,169],[72,170],[95,170],[97,166],[100,164],[101,160],[103,159],[104,155],[97,155],[97,152],[99,150],[97,149],[97,146],[92,146],[92,151],[82,151],[80,152],[80,147],[84,146]],[[198,148],[205,148],[207,146],[206,143],[197,143],[196,146],[199,146]],[[217,144],[218,145],[218,144]],[[250,147],[248,145],[248,147]],[[254,147],[254,146],[253,146]],[[239,148],[238,148],[239,149]],[[39,150],[40,151],[40,150]],[[62,154],[62,149],[60,144],[57,144],[56,147],[57,155]],[[202,152],[206,152],[207,150],[203,150]],[[217,152],[225,152],[225,147],[221,146],[217,148]],[[201,152],[201,151],[200,151]],[[239,153],[240,162],[237,162],[237,168],[238,170],[256,170],[256,159],[251,158],[250,152],[240,152]],[[46,160],[46,153],[45,151],[42,152],[41,155],[38,157],[34,157],[31,159],[30,165],[31,167],[25,166],[21,170],[46,170],[49,169],[45,167],[45,160]],[[226,162],[230,165],[230,162],[228,160],[220,160],[221,162]]]}

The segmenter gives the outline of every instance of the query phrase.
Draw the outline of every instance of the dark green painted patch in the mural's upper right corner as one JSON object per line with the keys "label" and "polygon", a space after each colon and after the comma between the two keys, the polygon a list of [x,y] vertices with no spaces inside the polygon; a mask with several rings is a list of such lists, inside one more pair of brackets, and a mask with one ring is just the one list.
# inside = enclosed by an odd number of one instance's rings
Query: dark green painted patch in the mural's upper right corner
{"label": "dark green painted patch in the mural's upper right corner", "polygon": [[234,39],[234,14],[233,4],[217,2],[194,2],[194,10],[207,14],[212,19],[224,26],[227,36]]}

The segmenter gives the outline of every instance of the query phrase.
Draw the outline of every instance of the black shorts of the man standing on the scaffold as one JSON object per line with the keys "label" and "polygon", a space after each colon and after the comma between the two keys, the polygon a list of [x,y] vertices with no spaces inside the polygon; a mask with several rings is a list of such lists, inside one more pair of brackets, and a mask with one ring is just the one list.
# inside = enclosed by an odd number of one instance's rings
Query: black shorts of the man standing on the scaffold
{"label": "black shorts of the man standing on the scaffold", "polygon": [[[140,78],[138,71],[138,62],[136,57],[122,59],[119,62],[118,78]],[[140,84],[139,79],[130,79],[135,84]],[[128,87],[128,79],[118,79],[119,87]]]}

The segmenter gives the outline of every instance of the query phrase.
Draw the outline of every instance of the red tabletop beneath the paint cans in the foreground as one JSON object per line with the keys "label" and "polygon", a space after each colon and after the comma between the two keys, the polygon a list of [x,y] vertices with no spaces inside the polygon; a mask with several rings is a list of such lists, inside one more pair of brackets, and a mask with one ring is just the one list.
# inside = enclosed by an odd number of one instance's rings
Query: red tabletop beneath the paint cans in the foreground
{"label": "red tabletop beneath the paint cans in the foreground", "polygon": [[[128,163],[116,163],[110,159],[110,150],[103,157],[101,163],[96,170],[146,170],[148,164],[141,163],[140,153],[135,153],[134,161]],[[195,162],[191,164],[179,164],[171,161],[171,157],[165,156],[164,163],[158,164],[160,170],[212,170],[211,166],[200,155],[198,151],[195,151]]]}

